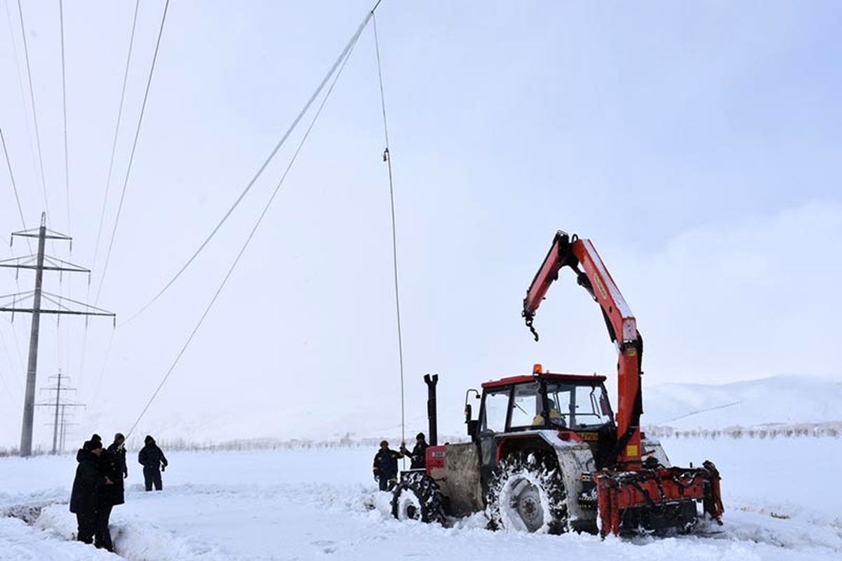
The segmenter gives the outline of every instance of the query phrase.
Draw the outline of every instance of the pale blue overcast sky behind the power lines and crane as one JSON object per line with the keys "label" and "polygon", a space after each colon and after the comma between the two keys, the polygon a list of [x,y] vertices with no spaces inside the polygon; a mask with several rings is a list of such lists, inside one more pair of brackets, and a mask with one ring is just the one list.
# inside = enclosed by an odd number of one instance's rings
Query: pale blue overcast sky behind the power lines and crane
{"label": "pale blue overcast sky behind the power lines and crane", "polygon": [[[65,3],[70,224],[58,3],[23,3],[44,186],[18,4],[3,4],[0,127],[24,218],[37,225],[45,189],[51,227],[74,238],[72,256],[60,243],[48,251],[90,267],[135,4]],[[369,1],[173,0],[99,298],[118,325],[220,220],[368,9]],[[93,303],[103,278],[162,12],[163,2],[141,3],[91,294],[81,276],[61,283],[76,299]],[[840,22],[831,2],[382,3],[407,430],[424,429],[427,372],[441,375],[441,430],[451,434],[463,430],[465,390],[489,378],[536,362],[614,373],[600,312],[570,274],[537,315],[540,343],[520,319],[559,229],[594,241],[625,294],[646,341],[644,384],[838,380]],[[138,433],[399,430],[371,32]],[[87,404],[72,446],[135,421],[301,132],[195,265],[136,320],[114,330],[94,319],[87,332],[78,318],[60,328],[43,320],[38,386],[61,368]],[[3,235],[23,226],[0,164]],[[15,241],[3,251],[28,249]],[[20,289],[32,278],[21,273]],[[58,276],[46,278],[58,292]],[[0,293],[18,290],[13,274],[0,275]],[[0,446],[19,442],[29,341],[28,318],[10,319],[0,320]],[[36,443],[50,441],[49,415],[36,413]]]}

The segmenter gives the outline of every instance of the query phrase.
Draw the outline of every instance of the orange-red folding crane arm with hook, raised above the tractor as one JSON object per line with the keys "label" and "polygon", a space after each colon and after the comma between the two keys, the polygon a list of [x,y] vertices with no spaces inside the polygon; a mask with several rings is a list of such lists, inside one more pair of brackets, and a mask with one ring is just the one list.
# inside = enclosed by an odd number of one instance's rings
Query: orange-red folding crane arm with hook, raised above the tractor
{"label": "orange-red folding crane arm with hook, raised above the tractor", "polygon": [[568,236],[561,230],[557,232],[550,251],[526,291],[523,309],[526,325],[538,341],[532,321],[562,267],[570,267],[576,273],[578,284],[600,304],[610,339],[617,347],[616,458],[618,463],[624,463],[629,468],[638,467],[641,461],[640,415],[643,412],[640,387],[643,340],[637,331],[632,310],[589,240]]}

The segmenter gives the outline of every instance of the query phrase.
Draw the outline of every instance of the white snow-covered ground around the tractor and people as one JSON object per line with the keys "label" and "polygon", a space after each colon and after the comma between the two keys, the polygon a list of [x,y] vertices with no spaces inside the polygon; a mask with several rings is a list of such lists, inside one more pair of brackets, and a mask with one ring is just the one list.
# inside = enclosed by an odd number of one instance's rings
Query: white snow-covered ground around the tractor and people
{"label": "white snow-covered ground around the tractor and people", "polygon": [[[130,464],[126,504],[112,515],[120,556],[129,559],[839,559],[842,494],[821,476],[842,459],[842,440],[776,438],[663,441],[674,463],[713,459],[726,505],[708,537],[539,536],[488,532],[482,516],[451,527],[398,522],[375,492],[374,450],[172,453],[164,490],[141,490]],[[69,542],[67,498],[74,458],[0,460],[0,511],[46,506],[33,526],[0,517],[0,559],[108,559]],[[63,502],[63,504],[62,504]],[[375,508],[371,508],[374,505]]]}

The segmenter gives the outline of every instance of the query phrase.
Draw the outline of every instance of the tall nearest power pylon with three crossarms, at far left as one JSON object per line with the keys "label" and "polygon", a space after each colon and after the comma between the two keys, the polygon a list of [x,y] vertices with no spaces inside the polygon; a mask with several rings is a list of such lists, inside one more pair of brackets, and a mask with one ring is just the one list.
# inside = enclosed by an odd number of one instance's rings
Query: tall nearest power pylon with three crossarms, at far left
{"label": "tall nearest power pylon with three crossarms, at far left", "polygon": [[[112,312],[102,310],[89,304],[84,304],[83,302],[78,302],[77,300],[63,298],[61,294],[50,294],[41,289],[45,271],[59,271],[60,273],[65,271],[68,273],[88,273],[88,282],[90,282],[91,273],[90,269],[79,267],[71,262],[44,254],[45,241],[47,240],[70,241],[72,243],[72,238],[70,236],[65,236],[59,232],[47,229],[45,213],[41,213],[41,225],[39,228],[13,232],[12,241],[14,241],[15,236],[38,238],[38,253],[36,255],[12,257],[11,259],[4,259],[3,261],[0,261],[0,267],[32,269],[35,271],[35,290],[0,296],[0,299],[11,299],[6,304],[0,304],[0,312],[12,312],[12,320],[14,320],[15,312],[32,314],[32,329],[29,334],[29,364],[26,370],[26,394],[24,396],[24,421],[20,431],[20,455],[30,456],[32,454],[32,429],[33,421],[35,419],[35,377],[38,371],[38,336],[40,331],[41,314],[54,314],[58,316],[84,315],[86,316],[86,322],[88,320],[88,315],[105,315],[115,318],[115,321],[117,316]],[[32,299],[32,304],[29,307],[19,307],[19,304],[29,300],[29,298]],[[51,302],[51,304],[55,304],[56,308],[42,309],[42,298]],[[71,305],[84,307],[84,310],[73,310],[70,306],[63,304],[62,300],[67,301]]]}

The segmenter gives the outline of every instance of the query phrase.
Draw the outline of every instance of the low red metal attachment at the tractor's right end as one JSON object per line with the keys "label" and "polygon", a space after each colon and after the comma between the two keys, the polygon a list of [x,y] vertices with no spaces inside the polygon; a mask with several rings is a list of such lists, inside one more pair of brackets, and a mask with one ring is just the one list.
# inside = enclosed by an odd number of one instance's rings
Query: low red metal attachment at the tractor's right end
{"label": "low red metal attachment at the tractor's right end", "polygon": [[594,473],[600,535],[689,530],[698,516],[697,502],[719,522],[724,511],[719,472],[710,461],[702,465]]}

